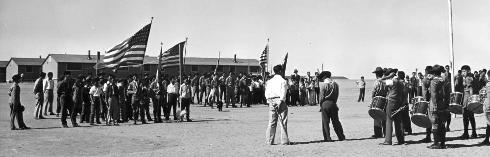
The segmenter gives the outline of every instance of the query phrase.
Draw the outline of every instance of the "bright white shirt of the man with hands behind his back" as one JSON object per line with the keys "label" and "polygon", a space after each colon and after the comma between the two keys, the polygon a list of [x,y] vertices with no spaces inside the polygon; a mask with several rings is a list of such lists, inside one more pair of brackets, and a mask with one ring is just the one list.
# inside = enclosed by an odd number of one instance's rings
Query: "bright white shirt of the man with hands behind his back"
{"label": "bright white shirt of the man with hands behind his back", "polygon": [[274,77],[267,81],[266,86],[266,99],[279,97],[280,100],[286,101],[288,83],[286,83],[286,80],[284,80],[280,75],[274,75]]}

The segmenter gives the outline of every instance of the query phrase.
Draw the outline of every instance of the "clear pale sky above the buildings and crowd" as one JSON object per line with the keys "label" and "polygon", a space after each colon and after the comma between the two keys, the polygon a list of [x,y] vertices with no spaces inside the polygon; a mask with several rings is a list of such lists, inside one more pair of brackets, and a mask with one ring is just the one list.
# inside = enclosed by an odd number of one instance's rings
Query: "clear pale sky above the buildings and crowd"
{"label": "clear pale sky above the buildings and crowd", "polygon": [[[456,69],[490,69],[488,8],[453,0]],[[447,0],[0,0],[0,60],[103,53],[151,17],[149,56],[187,37],[188,57],[259,59],[270,39],[271,67],[349,79],[450,61]]]}

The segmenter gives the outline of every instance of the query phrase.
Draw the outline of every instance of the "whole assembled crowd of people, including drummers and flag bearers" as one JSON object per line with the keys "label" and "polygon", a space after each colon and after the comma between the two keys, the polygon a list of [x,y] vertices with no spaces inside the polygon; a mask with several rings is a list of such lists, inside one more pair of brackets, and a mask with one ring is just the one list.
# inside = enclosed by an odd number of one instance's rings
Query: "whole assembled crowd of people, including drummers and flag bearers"
{"label": "whole assembled crowd of people, including drummers and flag bearers", "polygon": [[[476,137],[474,113],[485,113],[487,118],[486,137],[481,144],[490,144],[490,71],[486,69],[475,74],[470,72],[469,66],[463,66],[455,76],[455,91],[451,91],[451,74],[449,66],[439,65],[427,66],[425,75],[416,73],[413,77],[405,76],[403,71],[396,68],[377,67],[373,72],[377,78],[372,91],[372,103],[369,106],[369,115],[374,118],[374,132],[372,138],[380,138],[385,135],[385,141],[381,145],[392,145],[392,123],[394,121],[395,135],[398,143],[403,144],[404,132],[412,134],[408,105],[411,108],[412,122],[417,126],[427,128],[426,138],[420,142],[431,142],[430,135],[433,134],[434,144],[428,148],[445,148],[445,132],[449,131],[451,120],[450,112],[463,114],[464,134],[461,138],[469,138],[468,124],[471,123],[473,134]],[[154,123],[163,122],[162,110],[166,120],[170,120],[173,109],[173,120],[177,120],[176,106],[181,111],[186,111],[187,121],[189,118],[189,105],[217,104],[218,111],[222,111],[222,99],[228,108],[230,102],[235,108],[236,103],[240,107],[250,107],[253,104],[267,104],[270,108],[269,126],[267,129],[268,144],[274,143],[274,136],[278,119],[282,126],[282,144],[291,144],[287,136],[287,108],[288,106],[304,106],[305,104],[320,104],[322,117],[323,137],[325,141],[331,141],[329,123],[332,121],[335,133],[339,140],[345,140],[342,124],[338,117],[337,99],[339,95],[338,84],[330,79],[329,71],[316,72],[315,77],[307,73],[307,77],[300,77],[297,70],[291,76],[292,83],[281,76],[282,66],[274,67],[275,75],[266,73],[265,79],[261,76],[240,73],[235,77],[233,72],[223,73],[218,77],[216,73],[206,73],[199,77],[184,76],[182,85],[179,85],[178,77],[169,78],[163,75],[161,82],[157,82],[156,76],[143,79],[140,75],[128,76],[127,79],[116,81],[114,75],[104,78],[104,74],[98,74],[92,78],[89,73],[87,77],[78,76],[71,78],[70,71],[64,72],[57,84],[58,106],[57,114],[52,112],[54,81],[52,73],[41,73],[40,78],[34,83],[34,95],[37,99],[34,112],[35,119],[45,119],[44,115],[56,115],[61,113],[63,127],[68,127],[66,118],[70,115],[73,127],[79,127],[76,122],[77,114],[79,123],[88,122],[90,125],[101,124],[99,119],[105,121],[106,125],[119,125],[121,122],[133,120],[136,124],[140,118],[146,124],[145,113],[148,121]],[[425,76],[425,77],[424,77]],[[404,79],[405,78],[405,79]],[[422,79],[420,81],[420,79]],[[14,83],[9,90],[9,105],[11,109],[11,129],[17,130],[14,119],[17,118],[19,129],[30,129],[23,122],[22,112],[25,110],[20,103],[19,83],[21,77],[14,75]],[[364,81],[357,82],[365,86]],[[417,88],[419,85],[421,88]],[[361,90],[362,92],[362,90]],[[475,93],[475,94],[473,94]],[[479,93],[479,94],[478,94]],[[417,96],[417,97],[416,97]],[[204,98],[204,102],[202,99]],[[413,99],[412,99],[413,98]],[[361,100],[361,96],[360,99]],[[149,114],[149,102],[153,103],[153,119]],[[363,97],[364,101],[364,97]],[[139,116],[138,116],[139,115]],[[100,118],[99,118],[100,117]],[[447,122],[447,127],[446,126]],[[384,129],[383,129],[384,128]]]}

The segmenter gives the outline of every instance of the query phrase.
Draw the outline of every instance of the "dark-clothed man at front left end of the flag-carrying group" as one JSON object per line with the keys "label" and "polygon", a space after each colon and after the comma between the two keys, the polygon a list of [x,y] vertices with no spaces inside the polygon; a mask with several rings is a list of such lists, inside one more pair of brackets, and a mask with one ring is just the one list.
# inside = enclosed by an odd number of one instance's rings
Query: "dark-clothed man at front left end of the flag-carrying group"
{"label": "dark-clothed man at front left end of the flag-carrying group", "polygon": [[[68,111],[73,111],[73,91],[72,91],[72,86],[70,83],[70,71],[65,71],[65,79],[58,83],[58,90],[56,90],[56,93],[60,96],[60,104],[61,104],[61,124],[63,125],[63,128],[67,128],[68,124],[66,122],[66,118],[68,116]],[[73,127],[79,127],[79,125],[76,123],[76,113],[71,113],[70,119],[72,119],[72,125]]]}

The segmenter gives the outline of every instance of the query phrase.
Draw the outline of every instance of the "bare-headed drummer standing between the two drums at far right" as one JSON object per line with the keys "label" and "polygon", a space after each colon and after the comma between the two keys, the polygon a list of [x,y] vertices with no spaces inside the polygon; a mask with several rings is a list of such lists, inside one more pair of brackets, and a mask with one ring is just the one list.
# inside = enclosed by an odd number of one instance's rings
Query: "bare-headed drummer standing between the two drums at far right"
{"label": "bare-headed drummer standing between the two drums at far right", "polygon": [[475,124],[475,114],[468,109],[466,109],[468,105],[468,99],[471,95],[473,95],[473,77],[470,76],[471,68],[469,66],[461,67],[461,73],[463,75],[463,127],[464,133],[460,136],[460,138],[469,138],[468,134],[468,124],[471,123],[471,128],[473,133],[471,137],[477,137],[476,134],[476,124]]}

